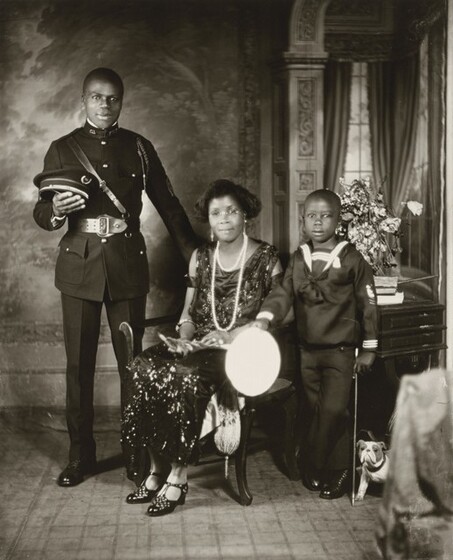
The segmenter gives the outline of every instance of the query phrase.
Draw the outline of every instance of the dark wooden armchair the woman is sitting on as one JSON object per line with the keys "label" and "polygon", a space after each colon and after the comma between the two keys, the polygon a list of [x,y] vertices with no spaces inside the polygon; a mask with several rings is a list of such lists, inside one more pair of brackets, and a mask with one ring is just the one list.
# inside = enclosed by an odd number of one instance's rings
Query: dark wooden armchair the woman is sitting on
{"label": "dark wooden armchair the woman is sitting on", "polygon": [[[165,324],[175,324],[179,315],[168,315],[147,319],[144,324],[137,325],[140,328],[162,326]],[[134,326],[127,322],[120,325],[120,331],[124,334],[129,363],[134,358]],[[253,496],[247,483],[247,453],[250,447],[252,426],[256,412],[261,409],[278,408],[282,414],[284,427],[283,437],[279,437],[282,448],[284,470],[290,480],[299,480],[299,414],[298,414],[298,391],[292,379],[283,377],[288,374],[293,360],[288,354],[286,344],[292,339],[291,328],[283,327],[279,329],[276,339],[282,351],[282,368],[280,376],[272,387],[264,394],[256,397],[245,397],[245,405],[241,409],[241,436],[239,447],[234,453],[234,463],[236,472],[236,483],[239,493],[239,503],[248,506],[252,503]]]}

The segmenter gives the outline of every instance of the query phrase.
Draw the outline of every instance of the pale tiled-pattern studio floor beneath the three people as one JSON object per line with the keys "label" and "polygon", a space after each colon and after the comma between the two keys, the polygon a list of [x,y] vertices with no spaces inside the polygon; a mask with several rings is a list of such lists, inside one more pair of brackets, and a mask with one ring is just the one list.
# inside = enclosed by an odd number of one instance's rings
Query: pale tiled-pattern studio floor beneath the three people
{"label": "pale tiled-pattern studio floor beneath the three people", "polygon": [[234,467],[191,467],[184,506],[163,518],[128,505],[112,418],[97,419],[101,471],[59,488],[67,436],[61,415],[0,414],[1,560],[297,559],[377,560],[374,527],[380,498],[321,500],[276,467],[271,450],[248,459],[253,503],[234,501]]}

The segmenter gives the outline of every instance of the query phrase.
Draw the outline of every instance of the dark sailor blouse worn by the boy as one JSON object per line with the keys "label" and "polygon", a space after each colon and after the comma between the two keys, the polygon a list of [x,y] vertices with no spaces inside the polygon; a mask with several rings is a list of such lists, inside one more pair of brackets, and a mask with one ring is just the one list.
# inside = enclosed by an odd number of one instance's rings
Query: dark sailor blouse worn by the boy
{"label": "dark sailor blouse worn by the boy", "polygon": [[[305,247],[313,254],[311,244]],[[294,304],[301,346],[375,350],[378,324],[370,265],[349,243],[327,271],[321,272],[322,266],[317,264],[317,271],[316,266],[310,270],[299,247],[291,256],[282,284],[267,296],[260,314],[269,312],[278,323]]]}

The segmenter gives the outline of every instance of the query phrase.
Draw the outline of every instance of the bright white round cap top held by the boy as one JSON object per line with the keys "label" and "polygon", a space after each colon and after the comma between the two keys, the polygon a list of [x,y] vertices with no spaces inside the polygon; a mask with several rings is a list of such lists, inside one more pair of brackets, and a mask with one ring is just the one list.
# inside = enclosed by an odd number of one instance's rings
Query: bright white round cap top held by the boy
{"label": "bright white round cap top held by the boy", "polygon": [[281,356],[275,338],[262,329],[250,327],[229,345],[225,371],[233,387],[249,397],[265,393],[280,372]]}

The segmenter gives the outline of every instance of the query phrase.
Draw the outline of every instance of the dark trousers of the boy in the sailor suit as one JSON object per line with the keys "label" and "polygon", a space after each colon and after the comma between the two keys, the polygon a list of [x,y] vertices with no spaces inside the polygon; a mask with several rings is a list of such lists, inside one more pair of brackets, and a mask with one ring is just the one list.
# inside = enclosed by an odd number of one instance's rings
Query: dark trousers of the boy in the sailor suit
{"label": "dark trousers of the boy in the sailor suit", "polygon": [[351,347],[300,350],[302,386],[309,408],[308,458],[319,470],[350,466],[348,405],[354,359]]}

